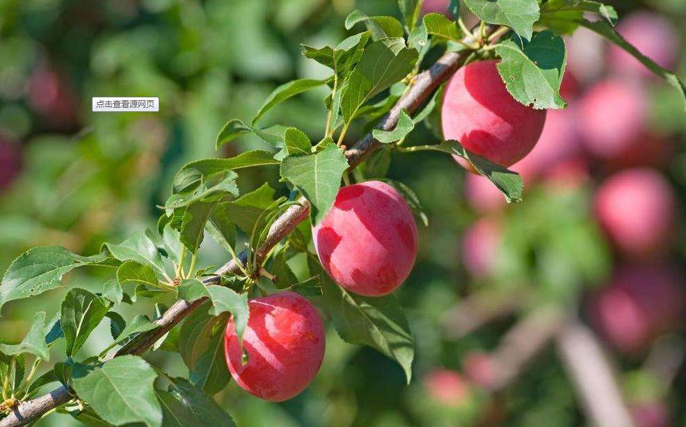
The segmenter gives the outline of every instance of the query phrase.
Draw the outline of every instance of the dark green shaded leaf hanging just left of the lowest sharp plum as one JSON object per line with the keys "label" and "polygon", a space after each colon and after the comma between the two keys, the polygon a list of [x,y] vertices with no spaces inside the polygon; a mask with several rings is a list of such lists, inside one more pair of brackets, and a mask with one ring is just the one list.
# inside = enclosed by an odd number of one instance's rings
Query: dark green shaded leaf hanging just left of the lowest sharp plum
{"label": "dark green shaded leaf hanging just left of the lowest sharp plum", "polygon": [[230,378],[224,360],[224,330],[229,315],[212,316],[212,302],[202,303],[181,326],[179,353],[190,371],[191,382],[205,392],[214,394],[223,389]]}

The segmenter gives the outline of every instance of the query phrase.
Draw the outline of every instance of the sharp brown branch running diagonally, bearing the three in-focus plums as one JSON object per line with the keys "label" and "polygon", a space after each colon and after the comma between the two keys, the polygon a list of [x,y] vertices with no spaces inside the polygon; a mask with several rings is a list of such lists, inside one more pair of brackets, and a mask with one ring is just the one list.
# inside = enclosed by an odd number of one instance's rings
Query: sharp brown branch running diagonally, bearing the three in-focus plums
{"label": "sharp brown branch running diagonally, bearing the three in-focus plums", "polygon": [[[488,27],[488,32],[492,32],[494,29]],[[471,37],[465,39],[471,42]],[[451,76],[459,67],[461,67],[470,51],[464,51],[460,53],[448,52],[444,54],[436,63],[434,63],[429,70],[426,70],[415,77],[412,87],[406,94],[401,97],[398,102],[391,108],[390,112],[385,115],[379,121],[377,129],[382,129],[385,131],[391,131],[398,124],[398,118],[401,110],[406,110],[408,113],[412,114],[417,111],[423,102],[431,96],[434,90],[438,88],[444,81],[446,81],[449,76]],[[358,166],[369,154],[374,152],[378,148],[378,141],[374,140],[372,133],[365,135],[364,138],[358,141],[351,149],[345,152],[345,156],[348,159],[350,168],[355,168]],[[266,255],[276,246],[276,244],[281,241],[287,234],[289,234],[302,220],[307,218],[310,212],[310,204],[304,198],[301,198],[301,204],[290,207],[285,211],[285,213],[280,216],[271,228],[269,229],[269,234],[267,234],[266,240],[257,249],[257,261],[262,263]],[[241,254],[241,259],[244,261],[246,259],[245,252]],[[216,271],[218,275],[226,275],[228,273],[239,272],[238,265],[235,261],[231,260],[224,264],[221,268]],[[216,282],[216,278],[211,277],[205,280],[206,284],[211,284]],[[193,303],[188,301],[179,300],[174,303],[167,311],[157,319],[155,323],[159,325],[159,328],[154,330],[143,332],[138,335],[134,340],[129,342],[126,346],[119,349],[114,354],[109,355],[107,358],[134,354],[141,355],[150,349],[150,346],[154,344],[158,339],[160,339],[164,334],[169,332],[177,323],[182,321],[186,316],[191,314],[194,309],[201,305],[203,299],[196,300]],[[59,387],[49,394],[40,396],[31,401],[25,401],[19,403],[13,411],[8,414],[7,417],[0,420],[0,427],[16,427],[24,426],[29,424],[31,421],[35,421],[42,417],[43,414],[52,410],[60,405],[63,405],[70,401],[72,396],[70,395],[70,390],[67,387]]]}

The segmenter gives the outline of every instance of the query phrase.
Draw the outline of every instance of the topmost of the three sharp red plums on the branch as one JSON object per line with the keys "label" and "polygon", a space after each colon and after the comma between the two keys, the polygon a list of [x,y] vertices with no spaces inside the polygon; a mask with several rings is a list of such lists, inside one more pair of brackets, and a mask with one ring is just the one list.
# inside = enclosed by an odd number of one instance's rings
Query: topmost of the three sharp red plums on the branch
{"label": "topmost of the three sharp red plums on the branch", "polygon": [[509,167],[536,145],[545,110],[517,102],[507,92],[496,64],[471,63],[452,76],[443,95],[442,129],[446,140],[458,140],[467,150]]}

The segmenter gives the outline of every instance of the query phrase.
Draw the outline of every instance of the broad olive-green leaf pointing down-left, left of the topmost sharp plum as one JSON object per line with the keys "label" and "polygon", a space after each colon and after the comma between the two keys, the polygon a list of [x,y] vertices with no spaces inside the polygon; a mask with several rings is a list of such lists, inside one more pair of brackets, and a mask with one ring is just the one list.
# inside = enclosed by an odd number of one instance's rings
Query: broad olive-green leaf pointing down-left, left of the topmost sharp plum
{"label": "broad olive-green leaf pointing down-left, left of the topmost sharp plum", "polygon": [[390,88],[412,72],[417,62],[415,49],[401,38],[374,42],[365,49],[349,77],[341,99],[344,121],[351,122],[358,109],[379,92]]}

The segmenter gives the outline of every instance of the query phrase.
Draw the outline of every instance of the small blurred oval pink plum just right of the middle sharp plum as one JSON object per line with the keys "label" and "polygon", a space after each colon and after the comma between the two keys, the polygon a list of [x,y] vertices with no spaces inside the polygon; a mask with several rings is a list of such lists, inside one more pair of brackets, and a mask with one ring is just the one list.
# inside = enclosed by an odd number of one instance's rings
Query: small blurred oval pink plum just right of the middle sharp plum
{"label": "small blurred oval pink plum just right of the middle sharp plum", "polygon": [[462,262],[470,275],[484,279],[493,274],[500,234],[500,227],[490,218],[481,218],[465,230],[461,247]]}

